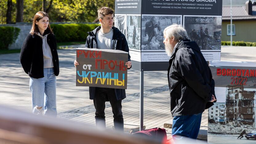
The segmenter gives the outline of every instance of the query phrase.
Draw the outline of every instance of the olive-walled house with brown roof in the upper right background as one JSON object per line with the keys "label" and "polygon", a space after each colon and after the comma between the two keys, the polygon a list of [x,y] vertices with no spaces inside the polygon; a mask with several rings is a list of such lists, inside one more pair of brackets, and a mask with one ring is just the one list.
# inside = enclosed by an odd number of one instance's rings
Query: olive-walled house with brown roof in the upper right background
{"label": "olive-walled house with brown roof in the upper right background", "polygon": [[[222,41],[230,41],[230,0],[223,0]],[[242,2],[244,2],[242,4]],[[256,42],[256,2],[232,0],[233,41]]]}

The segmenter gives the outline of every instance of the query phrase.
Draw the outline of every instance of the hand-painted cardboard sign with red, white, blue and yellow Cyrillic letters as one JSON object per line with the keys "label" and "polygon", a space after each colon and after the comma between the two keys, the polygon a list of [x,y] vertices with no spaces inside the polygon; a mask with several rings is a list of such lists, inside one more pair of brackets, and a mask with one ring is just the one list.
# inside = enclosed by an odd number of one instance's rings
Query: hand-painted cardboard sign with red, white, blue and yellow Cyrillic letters
{"label": "hand-painted cardboard sign with red, white, blue and yellow Cyrillic letters", "polygon": [[77,48],[76,60],[76,86],[127,88],[127,52]]}

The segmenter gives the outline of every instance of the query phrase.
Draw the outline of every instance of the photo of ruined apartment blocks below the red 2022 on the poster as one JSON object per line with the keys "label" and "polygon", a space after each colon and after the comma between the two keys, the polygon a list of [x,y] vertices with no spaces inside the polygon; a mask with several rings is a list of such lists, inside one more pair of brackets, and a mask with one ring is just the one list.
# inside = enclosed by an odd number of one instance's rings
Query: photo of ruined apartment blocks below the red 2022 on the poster
{"label": "photo of ruined apartment blocks below the red 2022 on the poster", "polygon": [[[255,79],[248,82],[254,82]],[[208,143],[256,143],[256,89],[227,85],[208,109]]]}

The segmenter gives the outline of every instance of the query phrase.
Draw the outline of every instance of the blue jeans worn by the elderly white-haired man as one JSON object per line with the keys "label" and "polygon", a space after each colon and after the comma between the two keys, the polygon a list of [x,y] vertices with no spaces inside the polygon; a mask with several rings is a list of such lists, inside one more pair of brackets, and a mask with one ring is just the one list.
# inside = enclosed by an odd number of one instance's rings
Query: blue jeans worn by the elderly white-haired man
{"label": "blue jeans worn by the elderly white-haired man", "polygon": [[175,139],[182,137],[196,139],[199,133],[202,113],[175,116],[173,118],[172,136]]}

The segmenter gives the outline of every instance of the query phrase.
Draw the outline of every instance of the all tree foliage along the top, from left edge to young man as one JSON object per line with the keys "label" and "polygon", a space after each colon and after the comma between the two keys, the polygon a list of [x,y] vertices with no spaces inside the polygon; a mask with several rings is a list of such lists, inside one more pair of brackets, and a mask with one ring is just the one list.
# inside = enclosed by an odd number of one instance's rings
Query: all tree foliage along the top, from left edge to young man
{"label": "all tree foliage along the top, from left edge to young man", "polygon": [[[16,1],[12,0],[12,22],[16,19]],[[93,22],[98,8],[114,9],[114,0],[53,0],[50,8],[50,22]],[[46,7],[50,0],[46,0]],[[34,15],[42,10],[42,0],[24,0],[23,22],[32,22]],[[0,24],[6,23],[7,0],[0,0]]]}

